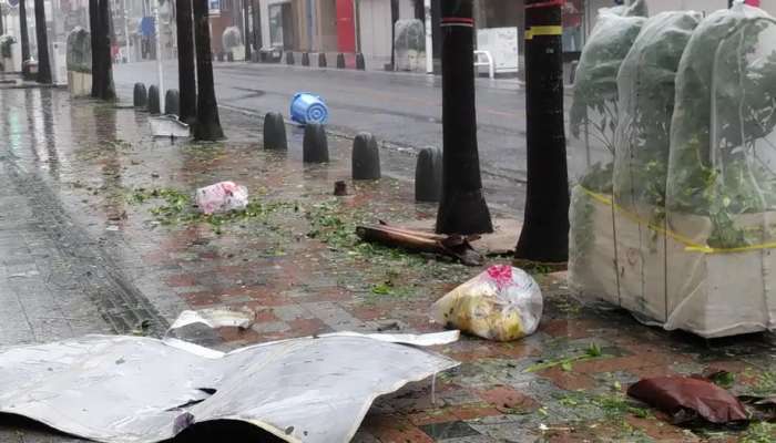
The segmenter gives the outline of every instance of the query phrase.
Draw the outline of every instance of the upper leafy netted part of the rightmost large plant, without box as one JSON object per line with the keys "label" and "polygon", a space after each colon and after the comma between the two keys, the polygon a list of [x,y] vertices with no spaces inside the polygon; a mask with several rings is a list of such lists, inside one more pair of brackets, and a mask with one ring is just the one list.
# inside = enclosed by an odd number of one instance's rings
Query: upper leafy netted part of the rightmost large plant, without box
{"label": "upper leafy netted part of the rightmost large plant, without box", "polygon": [[[698,27],[682,59],[668,209],[706,215],[713,247],[755,241],[736,217],[776,204],[776,20],[738,4]],[[772,138],[772,137],[770,137]],[[763,233],[759,234],[760,236]]]}

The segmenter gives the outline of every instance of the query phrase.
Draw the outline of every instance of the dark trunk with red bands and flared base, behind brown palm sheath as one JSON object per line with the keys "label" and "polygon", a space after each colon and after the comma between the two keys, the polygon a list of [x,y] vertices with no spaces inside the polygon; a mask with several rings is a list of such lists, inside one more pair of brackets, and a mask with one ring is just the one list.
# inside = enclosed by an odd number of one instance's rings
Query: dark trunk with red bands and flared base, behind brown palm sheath
{"label": "dark trunk with red bands and flared base, behind brown palm sheath", "polygon": [[437,233],[493,231],[482,194],[474,109],[472,0],[442,2],[442,198]]}

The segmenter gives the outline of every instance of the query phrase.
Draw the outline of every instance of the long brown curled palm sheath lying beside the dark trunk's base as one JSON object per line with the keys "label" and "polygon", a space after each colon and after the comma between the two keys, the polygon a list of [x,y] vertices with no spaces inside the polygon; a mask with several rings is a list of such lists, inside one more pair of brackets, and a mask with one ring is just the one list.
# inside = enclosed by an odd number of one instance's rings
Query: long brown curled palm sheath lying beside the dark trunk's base
{"label": "long brown curled palm sheath lying beside the dark trunk's base", "polygon": [[429,253],[459,259],[467,266],[482,265],[482,256],[471,247],[477,236],[439,235],[389,226],[358,226],[356,235],[369,243],[398,247],[415,253]]}

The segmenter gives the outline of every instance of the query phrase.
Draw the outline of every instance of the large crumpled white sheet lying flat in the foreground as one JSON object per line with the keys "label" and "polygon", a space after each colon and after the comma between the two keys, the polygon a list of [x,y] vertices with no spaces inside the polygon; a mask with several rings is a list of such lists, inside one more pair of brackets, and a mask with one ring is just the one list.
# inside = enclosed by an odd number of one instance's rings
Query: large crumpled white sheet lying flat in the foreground
{"label": "large crumpled white sheet lying flat in the foreground", "polygon": [[198,423],[239,421],[286,442],[344,443],[377,396],[457,365],[390,336],[306,337],[228,353],[176,339],[88,336],[0,348],[0,413],[98,442],[155,443]]}

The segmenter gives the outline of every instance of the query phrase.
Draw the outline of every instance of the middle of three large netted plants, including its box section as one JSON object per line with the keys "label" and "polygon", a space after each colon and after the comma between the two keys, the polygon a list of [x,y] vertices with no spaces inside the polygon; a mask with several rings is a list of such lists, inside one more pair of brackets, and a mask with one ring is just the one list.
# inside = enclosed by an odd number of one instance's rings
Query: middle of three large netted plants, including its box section
{"label": "middle of three large netted plants, including its box section", "polygon": [[697,12],[664,12],[642,28],[617,74],[614,237],[619,305],[665,321],[665,181],[680,60]]}

